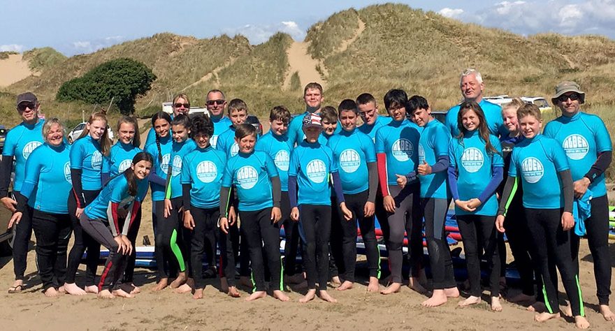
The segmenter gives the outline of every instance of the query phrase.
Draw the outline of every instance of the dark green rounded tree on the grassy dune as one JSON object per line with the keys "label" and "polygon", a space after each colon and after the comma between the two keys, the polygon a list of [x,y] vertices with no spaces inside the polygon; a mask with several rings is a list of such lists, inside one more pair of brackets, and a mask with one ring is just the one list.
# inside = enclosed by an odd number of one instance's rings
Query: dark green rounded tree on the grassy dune
{"label": "dark green rounded tree on the grassy dune", "polygon": [[64,82],[58,89],[58,101],[85,101],[87,103],[113,103],[124,115],[134,112],[137,96],[152,88],[156,75],[145,64],[133,59],[107,61],[78,78]]}

